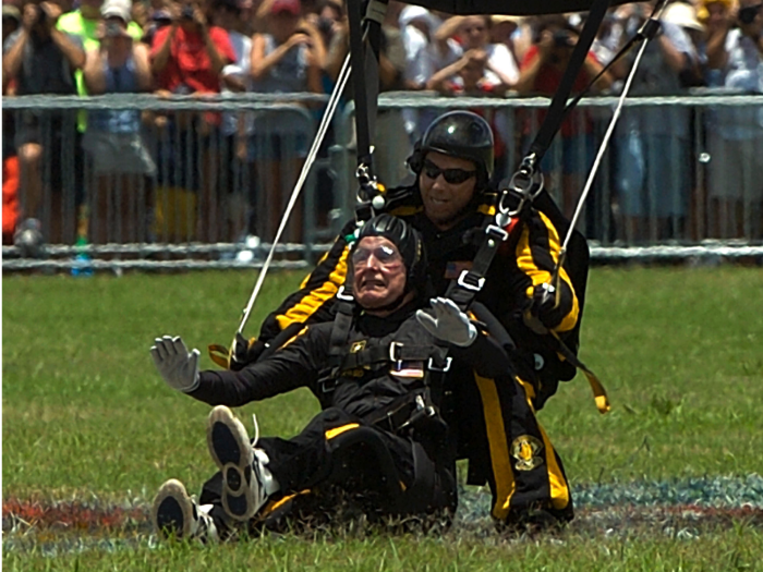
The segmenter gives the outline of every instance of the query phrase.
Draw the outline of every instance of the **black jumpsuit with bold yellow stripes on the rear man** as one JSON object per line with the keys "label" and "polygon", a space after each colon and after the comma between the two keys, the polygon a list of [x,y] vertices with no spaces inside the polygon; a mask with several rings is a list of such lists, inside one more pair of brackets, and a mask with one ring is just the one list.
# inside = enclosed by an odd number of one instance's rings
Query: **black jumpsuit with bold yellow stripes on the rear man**
{"label": "black jumpsuit with bold yellow stripes on the rear man", "polygon": [[[440,231],[423,214],[415,187],[390,190],[390,214],[419,229],[427,251],[434,291],[441,295],[462,270],[471,267],[479,250],[480,226],[495,215],[496,195],[477,195],[470,214],[455,228]],[[349,222],[330,251],[263,322],[259,343],[289,326],[330,321],[334,297],[347,275]],[[559,235],[548,217],[528,209],[511,228],[509,239],[494,258],[476,302],[495,315],[513,339],[517,376],[509,384],[468,373],[453,379],[453,407],[449,423],[458,427],[459,455],[470,460],[469,483],[487,480],[493,492],[492,514],[512,523],[532,518],[536,509],[566,521],[572,500],[561,461],[535,418],[535,410],[556,390],[559,380],[576,369],[549,349],[543,334],[525,325],[535,285],[552,280],[559,257]],[[559,305],[552,330],[560,337],[578,322],[578,297],[565,268],[560,271]],[[545,334],[546,337],[548,334]]]}

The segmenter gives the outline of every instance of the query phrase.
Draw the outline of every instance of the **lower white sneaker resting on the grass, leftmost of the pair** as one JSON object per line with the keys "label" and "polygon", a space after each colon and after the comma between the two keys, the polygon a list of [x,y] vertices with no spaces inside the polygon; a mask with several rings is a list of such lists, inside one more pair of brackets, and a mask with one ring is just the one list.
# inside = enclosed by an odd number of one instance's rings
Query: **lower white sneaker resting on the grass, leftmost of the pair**
{"label": "lower white sneaker resting on the grass, leftmost of the pair", "polygon": [[154,531],[161,538],[196,538],[203,543],[217,541],[217,527],[209,514],[211,504],[197,506],[177,478],[161,487],[152,507]]}

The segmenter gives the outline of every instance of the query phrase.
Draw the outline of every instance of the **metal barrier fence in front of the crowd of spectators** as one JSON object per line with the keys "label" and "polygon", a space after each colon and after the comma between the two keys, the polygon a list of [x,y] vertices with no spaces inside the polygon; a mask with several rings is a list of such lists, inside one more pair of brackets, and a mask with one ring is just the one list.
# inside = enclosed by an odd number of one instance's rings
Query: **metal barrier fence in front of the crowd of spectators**
{"label": "metal barrier fence in front of the crowd of spectators", "polygon": [[[47,239],[44,257],[20,257],[0,229],[0,269],[258,266],[325,100],[303,94],[289,102],[256,94],[0,98],[0,219],[13,215],[8,188],[15,175],[24,181],[17,200],[38,215]],[[544,161],[546,186],[568,214],[615,102],[584,99]],[[510,175],[547,105],[545,98],[385,94],[375,137],[379,178],[389,186],[410,174],[404,159],[412,142],[452,108],[488,120],[498,139],[497,173]],[[335,118],[332,135],[276,266],[308,265],[351,216],[351,105]],[[760,257],[762,172],[763,96],[631,98],[580,230],[598,259]]]}

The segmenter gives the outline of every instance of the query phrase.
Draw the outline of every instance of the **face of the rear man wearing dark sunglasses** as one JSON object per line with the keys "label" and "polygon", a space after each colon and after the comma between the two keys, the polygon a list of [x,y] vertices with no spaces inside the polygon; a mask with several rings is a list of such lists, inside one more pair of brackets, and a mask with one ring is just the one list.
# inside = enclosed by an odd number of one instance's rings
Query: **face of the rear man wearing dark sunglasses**
{"label": "face of the rear man wearing dark sunglasses", "polygon": [[[438,172],[447,171],[447,172]],[[460,182],[448,182],[467,178]],[[436,177],[435,177],[436,175]],[[440,230],[447,230],[459,219],[474,196],[476,166],[469,159],[450,157],[437,151],[426,154],[419,178],[419,190],[424,203],[424,214]]]}

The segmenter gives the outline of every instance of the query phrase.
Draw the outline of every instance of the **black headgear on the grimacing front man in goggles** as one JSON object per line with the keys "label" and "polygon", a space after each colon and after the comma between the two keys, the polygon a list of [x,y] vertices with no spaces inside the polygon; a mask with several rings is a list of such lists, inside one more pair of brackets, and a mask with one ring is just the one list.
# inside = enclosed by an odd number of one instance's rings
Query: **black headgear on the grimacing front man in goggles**
{"label": "black headgear on the grimacing front man in goggles", "polygon": [[363,223],[353,247],[366,236],[383,236],[398,247],[405,265],[405,292],[415,289],[423,294],[426,283],[426,255],[419,231],[404,220],[385,212]]}

